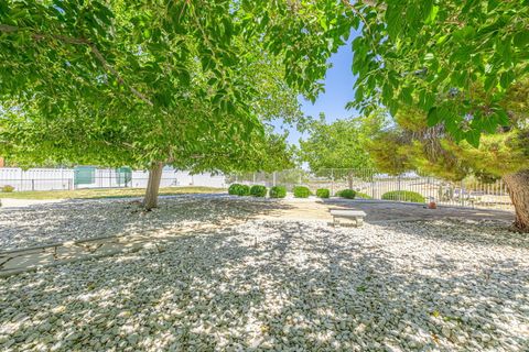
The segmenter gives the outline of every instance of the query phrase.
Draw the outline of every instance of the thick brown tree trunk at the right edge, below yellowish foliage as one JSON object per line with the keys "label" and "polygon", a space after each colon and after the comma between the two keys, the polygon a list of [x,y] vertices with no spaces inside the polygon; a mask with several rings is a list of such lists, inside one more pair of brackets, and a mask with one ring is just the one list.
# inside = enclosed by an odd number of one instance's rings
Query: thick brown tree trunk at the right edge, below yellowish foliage
{"label": "thick brown tree trunk at the right edge, below yellowish foliage", "polygon": [[529,169],[505,175],[504,182],[515,205],[514,230],[529,232]]}

